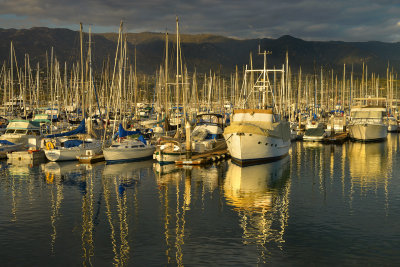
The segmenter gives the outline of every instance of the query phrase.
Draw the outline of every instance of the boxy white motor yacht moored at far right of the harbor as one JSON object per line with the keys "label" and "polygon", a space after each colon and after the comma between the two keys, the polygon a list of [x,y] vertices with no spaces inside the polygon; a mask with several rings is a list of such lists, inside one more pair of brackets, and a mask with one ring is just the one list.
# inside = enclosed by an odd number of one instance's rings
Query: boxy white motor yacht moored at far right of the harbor
{"label": "boxy white motor yacht moored at far right of the harbor", "polygon": [[387,137],[388,126],[384,123],[386,108],[377,106],[354,107],[348,125],[350,138],[357,141],[379,141]]}

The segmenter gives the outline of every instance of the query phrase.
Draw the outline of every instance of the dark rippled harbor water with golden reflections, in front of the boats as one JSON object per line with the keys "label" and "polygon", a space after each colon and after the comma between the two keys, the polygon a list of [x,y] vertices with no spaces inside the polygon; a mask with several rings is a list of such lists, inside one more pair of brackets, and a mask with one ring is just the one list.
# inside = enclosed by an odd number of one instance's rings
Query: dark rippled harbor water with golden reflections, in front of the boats
{"label": "dark rippled harbor water with golden reflections, in front of the boats", "polygon": [[394,266],[400,138],[239,167],[1,161],[2,266]]}

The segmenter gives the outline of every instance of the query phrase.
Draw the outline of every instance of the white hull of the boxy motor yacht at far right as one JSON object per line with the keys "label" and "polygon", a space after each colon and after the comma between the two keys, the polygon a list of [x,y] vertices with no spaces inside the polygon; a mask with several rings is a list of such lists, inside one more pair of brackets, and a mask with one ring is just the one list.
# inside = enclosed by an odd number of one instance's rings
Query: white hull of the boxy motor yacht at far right
{"label": "white hull of the boxy motor yacht at far right", "polygon": [[349,125],[350,138],[359,141],[378,141],[387,137],[388,127],[383,124]]}

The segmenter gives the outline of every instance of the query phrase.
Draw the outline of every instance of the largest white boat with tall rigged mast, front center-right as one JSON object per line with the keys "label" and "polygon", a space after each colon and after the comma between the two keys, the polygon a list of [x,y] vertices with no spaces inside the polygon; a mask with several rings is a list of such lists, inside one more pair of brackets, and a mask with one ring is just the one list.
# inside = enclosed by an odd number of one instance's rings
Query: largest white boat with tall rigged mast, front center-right
{"label": "largest white boat with tall rigged mast, front center-right", "polygon": [[[255,94],[256,89],[262,93],[263,108],[246,109],[244,107],[248,98],[245,99],[242,109],[233,110],[231,124],[224,130],[224,138],[232,160],[240,165],[277,160],[286,156],[290,148],[289,122],[281,120],[280,115],[276,114],[274,106],[272,108],[267,106],[268,93],[271,96],[270,101],[273,105],[275,104],[268,74],[277,70],[266,68],[267,52],[264,51],[263,54],[264,68],[248,70],[246,66],[244,81],[246,85],[247,74],[259,74],[256,83],[251,85],[250,94]],[[282,73],[283,81],[284,69],[278,71]]]}

